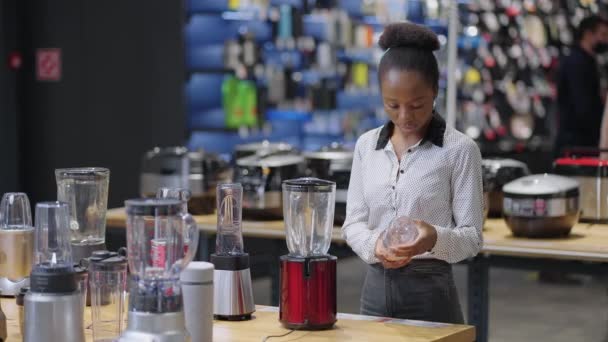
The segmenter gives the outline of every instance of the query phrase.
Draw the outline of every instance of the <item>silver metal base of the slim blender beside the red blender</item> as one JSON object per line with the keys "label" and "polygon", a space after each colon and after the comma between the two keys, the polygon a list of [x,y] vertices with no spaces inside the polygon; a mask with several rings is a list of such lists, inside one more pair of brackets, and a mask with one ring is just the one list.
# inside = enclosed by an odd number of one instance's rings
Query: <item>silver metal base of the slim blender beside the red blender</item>
{"label": "silver metal base of the slim blender beside the red blender", "polygon": [[255,311],[249,268],[213,272],[213,315],[216,319],[242,321]]}

